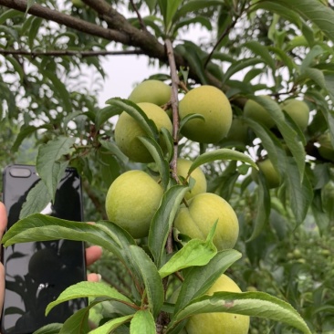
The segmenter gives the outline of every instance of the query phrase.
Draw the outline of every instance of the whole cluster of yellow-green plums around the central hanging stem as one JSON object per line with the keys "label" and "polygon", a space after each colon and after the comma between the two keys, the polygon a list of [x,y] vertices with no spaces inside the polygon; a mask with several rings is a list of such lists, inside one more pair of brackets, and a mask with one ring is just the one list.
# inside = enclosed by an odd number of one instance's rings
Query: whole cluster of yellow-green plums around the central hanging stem
{"label": "whole cluster of yellow-green plums around the central hanging stem", "polygon": [[[165,128],[172,134],[172,120],[168,113],[171,95],[172,89],[169,85],[160,80],[149,79],[133,89],[129,99],[154,122],[157,130]],[[184,94],[179,103],[180,119],[183,120],[191,114],[197,116],[185,122],[181,129],[181,135],[191,141],[219,142],[232,125],[233,112],[230,102],[222,90],[213,86],[200,86]],[[120,151],[132,162],[153,162],[150,151],[138,138],[144,135],[145,131],[139,123],[123,111],[115,125],[114,137]],[[162,136],[160,145],[162,151],[165,150]],[[201,168],[196,168],[188,175],[192,161],[179,157],[176,165],[179,180],[188,182],[191,177],[194,185],[185,194],[173,226],[183,235],[205,239],[217,222],[214,245],[219,250],[233,248],[239,234],[239,224],[231,205],[222,197],[207,193],[206,178]],[[106,196],[108,218],[119,224],[133,238],[144,238],[149,234],[151,219],[161,204],[162,195],[163,189],[159,180],[148,172],[123,172],[111,183]],[[235,282],[225,275],[216,281],[207,294],[214,291],[241,292]],[[248,329],[249,317],[228,313],[193,316],[185,327],[189,334],[246,334]]]}

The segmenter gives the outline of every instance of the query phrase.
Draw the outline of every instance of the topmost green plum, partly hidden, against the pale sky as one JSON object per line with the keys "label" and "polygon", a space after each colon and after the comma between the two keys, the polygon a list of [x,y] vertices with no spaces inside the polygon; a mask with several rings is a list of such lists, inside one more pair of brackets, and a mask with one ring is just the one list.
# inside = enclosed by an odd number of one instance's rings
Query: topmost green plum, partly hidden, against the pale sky
{"label": "topmost green plum, partly hidden, against the pale sky", "polygon": [[145,80],[132,90],[129,99],[134,103],[150,102],[162,106],[170,101],[171,95],[171,86],[160,80]]}

